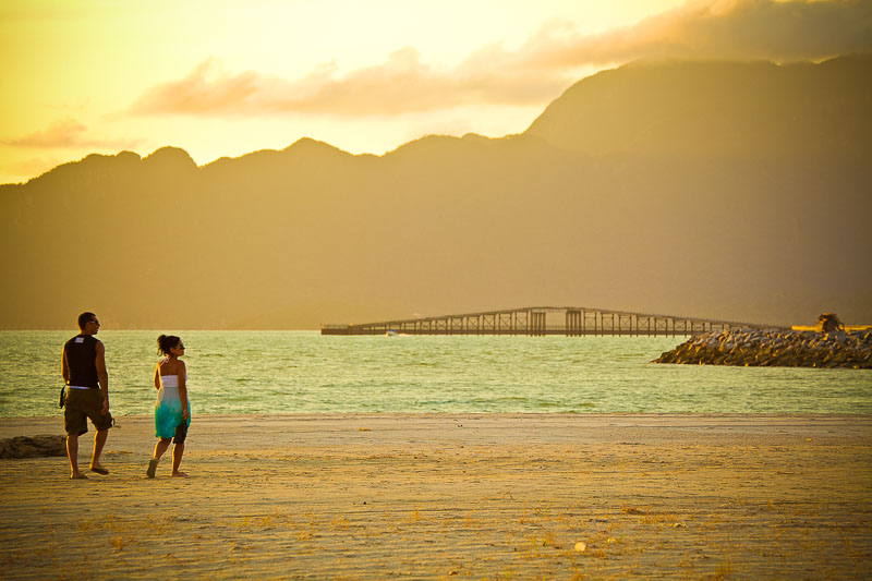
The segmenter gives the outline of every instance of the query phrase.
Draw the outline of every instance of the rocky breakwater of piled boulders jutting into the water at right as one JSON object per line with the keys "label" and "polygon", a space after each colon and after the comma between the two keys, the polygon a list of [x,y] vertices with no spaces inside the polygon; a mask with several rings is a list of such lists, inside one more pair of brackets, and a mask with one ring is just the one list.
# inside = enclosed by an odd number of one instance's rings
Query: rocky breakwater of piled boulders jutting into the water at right
{"label": "rocky breakwater of piled boulders jutting into the water at right", "polygon": [[725,329],[694,336],[653,363],[872,370],[872,330]]}

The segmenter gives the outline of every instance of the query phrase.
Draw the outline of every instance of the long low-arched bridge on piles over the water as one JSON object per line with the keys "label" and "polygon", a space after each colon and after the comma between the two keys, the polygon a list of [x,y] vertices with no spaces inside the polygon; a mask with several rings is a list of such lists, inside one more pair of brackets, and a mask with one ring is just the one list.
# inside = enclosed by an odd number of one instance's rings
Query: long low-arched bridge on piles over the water
{"label": "long low-arched bridge on piles over the water", "polygon": [[674,315],[652,315],[586,306],[528,306],[502,311],[377,323],[322,325],[322,335],[524,335],[545,336],[689,336],[730,328],[776,328],[774,325],[737,323]]}

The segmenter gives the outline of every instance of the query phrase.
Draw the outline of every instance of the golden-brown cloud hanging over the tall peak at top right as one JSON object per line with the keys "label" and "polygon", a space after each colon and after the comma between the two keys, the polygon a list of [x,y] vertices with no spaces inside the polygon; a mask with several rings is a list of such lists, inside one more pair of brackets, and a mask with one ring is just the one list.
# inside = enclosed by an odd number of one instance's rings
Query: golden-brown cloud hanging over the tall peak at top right
{"label": "golden-brown cloud hanging over the tall peak at top right", "polygon": [[549,70],[646,58],[818,60],[872,51],[872,2],[697,0],[601,35],[544,31],[526,48],[529,65]]}

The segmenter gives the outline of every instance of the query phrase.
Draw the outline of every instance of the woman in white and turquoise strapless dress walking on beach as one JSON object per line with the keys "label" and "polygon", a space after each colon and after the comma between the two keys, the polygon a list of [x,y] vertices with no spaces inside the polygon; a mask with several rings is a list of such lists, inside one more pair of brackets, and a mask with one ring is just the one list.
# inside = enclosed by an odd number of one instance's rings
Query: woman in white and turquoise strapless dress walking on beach
{"label": "woman in white and turquoise strapless dress walking on beach", "polygon": [[174,335],[161,335],[157,338],[158,354],[166,355],[155,367],[155,389],[157,402],[155,403],[155,432],[158,439],[155,446],[155,457],[148,462],[146,475],[155,477],[157,463],[160,457],[172,447],[172,475],[186,476],[179,471],[184,453],[184,438],[191,425],[191,402],[187,401],[187,373],[184,362],[179,358],[184,355],[184,344]]}

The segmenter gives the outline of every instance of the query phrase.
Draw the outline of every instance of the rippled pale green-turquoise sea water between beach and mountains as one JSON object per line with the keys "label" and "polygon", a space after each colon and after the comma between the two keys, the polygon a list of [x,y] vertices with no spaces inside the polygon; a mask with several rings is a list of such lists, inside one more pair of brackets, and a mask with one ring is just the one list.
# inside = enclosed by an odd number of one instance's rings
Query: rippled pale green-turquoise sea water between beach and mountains
{"label": "rippled pale green-turquoise sea water between beach and mountains", "polygon": [[[0,416],[60,415],[73,332],[0,332]],[[105,330],[114,415],[154,410],[156,331]],[[872,372],[655,365],[683,338],[186,331],[193,414],[872,413]]]}

